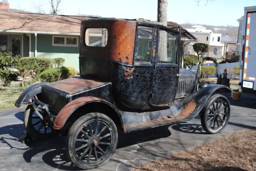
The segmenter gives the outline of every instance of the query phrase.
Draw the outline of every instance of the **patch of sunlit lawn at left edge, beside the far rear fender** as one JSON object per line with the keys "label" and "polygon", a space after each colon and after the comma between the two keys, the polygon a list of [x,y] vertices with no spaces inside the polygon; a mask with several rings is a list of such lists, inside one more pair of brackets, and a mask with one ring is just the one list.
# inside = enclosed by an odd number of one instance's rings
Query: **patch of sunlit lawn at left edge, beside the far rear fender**
{"label": "patch of sunlit lawn at left edge, beside the far rear fender", "polygon": [[16,81],[11,82],[9,87],[4,87],[2,82],[0,82],[0,109],[15,107],[14,103],[19,95],[30,85],[28,82],[24,84],[24,87],[21,87],[20,82]]}

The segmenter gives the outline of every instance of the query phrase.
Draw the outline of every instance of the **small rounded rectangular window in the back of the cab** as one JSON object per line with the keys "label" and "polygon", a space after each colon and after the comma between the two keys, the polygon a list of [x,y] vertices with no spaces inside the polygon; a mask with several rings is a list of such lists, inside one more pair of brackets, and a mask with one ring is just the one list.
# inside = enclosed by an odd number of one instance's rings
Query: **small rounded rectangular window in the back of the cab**
{"label": "small rounded rectangular window in the back of the cab", "polygon": [[85,31],[85,44],[87,46],[105,47],[108,42],[106,28],[87,28]]}

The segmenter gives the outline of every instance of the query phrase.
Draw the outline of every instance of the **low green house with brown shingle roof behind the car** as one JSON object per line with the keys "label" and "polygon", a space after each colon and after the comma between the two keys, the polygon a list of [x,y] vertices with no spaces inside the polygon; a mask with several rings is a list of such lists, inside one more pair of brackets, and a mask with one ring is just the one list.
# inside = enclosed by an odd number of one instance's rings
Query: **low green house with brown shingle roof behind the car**
{"label": "low green house with brown shingle roof behind the car", "polygon": [[[21,57],[61,57],[66,60],[65,66],[79,71],[80,22],[93,17],[13,12],[8,2],[0,2],[0,16],[0,52]],[[178,26],[168,22],[168,27]],[[102,35],[102,30],[94,29],[89,34],[89,44],[100,44]],[[182,40],[196,38],[182,28]],[[140,43],[145,48],[139,55],[145,58],[151,45],[149,37]]]}

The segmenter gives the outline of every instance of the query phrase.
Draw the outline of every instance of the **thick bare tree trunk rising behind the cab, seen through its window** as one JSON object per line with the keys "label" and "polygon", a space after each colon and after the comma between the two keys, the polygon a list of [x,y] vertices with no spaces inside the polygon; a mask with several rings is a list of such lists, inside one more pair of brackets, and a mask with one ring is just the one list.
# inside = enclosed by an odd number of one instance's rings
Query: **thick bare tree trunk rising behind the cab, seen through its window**
{"label": "thick bare tree trunk rising behind the cab, seen through its window", "polygon": [[[158,0],[157,21],[167,26],[167,0]],[[167,55],[167,32],[159,32],[158,59],[168,61]]]}

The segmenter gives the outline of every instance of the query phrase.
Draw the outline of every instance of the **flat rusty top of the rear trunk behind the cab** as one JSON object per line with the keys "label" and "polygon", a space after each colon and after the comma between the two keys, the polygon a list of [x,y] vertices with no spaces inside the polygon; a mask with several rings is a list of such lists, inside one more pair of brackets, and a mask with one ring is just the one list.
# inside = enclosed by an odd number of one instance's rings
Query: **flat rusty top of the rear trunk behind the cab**
{"label": "flat rusty top of the rear trunk behind the cab", "polygon": [[82,79],[82,78],[68,78],[60,80],[58,82],[48,83],[49,87],[64,91],[69,94],[74,94],[80,91],[86,91],[102,85],[109,84],[109,82],[98,82],[94,80]]}

